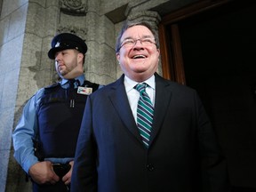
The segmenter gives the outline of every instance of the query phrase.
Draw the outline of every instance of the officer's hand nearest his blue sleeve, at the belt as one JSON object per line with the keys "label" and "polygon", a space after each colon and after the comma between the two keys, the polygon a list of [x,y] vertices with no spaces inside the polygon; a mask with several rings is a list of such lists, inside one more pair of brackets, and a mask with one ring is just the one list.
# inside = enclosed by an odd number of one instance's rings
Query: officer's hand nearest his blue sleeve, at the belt
{"label": "officer's hand nearest his blue sleeve, at the belt", "polygon": [[54,184],[60,180],[58,175],[52,171],[52,163],[50,161],[33,164],[29,168],[28,174],[38,184]]}

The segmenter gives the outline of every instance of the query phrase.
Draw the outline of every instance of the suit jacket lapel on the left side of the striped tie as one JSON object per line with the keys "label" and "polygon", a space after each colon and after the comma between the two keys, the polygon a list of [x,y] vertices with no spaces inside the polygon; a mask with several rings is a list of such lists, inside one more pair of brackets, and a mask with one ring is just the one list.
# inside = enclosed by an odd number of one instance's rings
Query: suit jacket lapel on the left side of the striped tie
{"label": "suit jacket lapel on the left side of the striped tie", "polygon": [[[111,89],[111,92],[108,94],[108,99],[116,109],[116,114],[120,117],[127,129],[140,140],[140,133],[132,115],[132,109],[124,88],[124,75],[113,84]],[[141,140],[140,142],[142,143]]]}

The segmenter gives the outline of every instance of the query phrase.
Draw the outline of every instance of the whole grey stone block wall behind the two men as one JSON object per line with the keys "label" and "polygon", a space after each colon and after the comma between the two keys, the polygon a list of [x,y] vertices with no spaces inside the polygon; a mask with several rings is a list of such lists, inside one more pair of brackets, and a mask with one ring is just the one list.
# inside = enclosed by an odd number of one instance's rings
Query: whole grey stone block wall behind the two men
{"label": "whole grey stone block wall behind the two men", "polygon": [[[149,20],[157,28],[162,14],[192,0],[1,2],[0,192],[28,192],[31,183],[25,181],[25,173],[13,159],[12,130],[27,100],[39,88],[57,81],[54,61],[47,57],[52,37],[60,32],[72,32],[84,38],[88,45],[84,64],[86,78],[108,84],[122,74],[116,62],[115,45],[123,21]],[[161,65],[158,72],[162,74]]]}

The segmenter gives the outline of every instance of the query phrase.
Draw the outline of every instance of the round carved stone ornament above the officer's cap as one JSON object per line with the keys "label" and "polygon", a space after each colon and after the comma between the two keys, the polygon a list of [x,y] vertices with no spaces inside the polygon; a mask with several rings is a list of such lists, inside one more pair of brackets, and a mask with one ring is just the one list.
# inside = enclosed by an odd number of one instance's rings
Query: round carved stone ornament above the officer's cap
{"label": "round carved stone ornament above the officer's cap", "polygon": [[60,11],[66,14],[84,16],[87,10],[87,0],[60,0]]}

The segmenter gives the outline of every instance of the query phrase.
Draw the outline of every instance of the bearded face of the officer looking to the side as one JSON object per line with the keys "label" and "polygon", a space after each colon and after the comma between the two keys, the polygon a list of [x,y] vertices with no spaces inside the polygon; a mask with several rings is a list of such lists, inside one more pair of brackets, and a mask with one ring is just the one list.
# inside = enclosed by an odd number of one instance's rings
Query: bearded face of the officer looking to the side
{"label": "bearded face of the officer looking to the side", "polygon": [[83,74],[84,55],[73,49],[63,50],[55,54],[55,68],[61,78],[75,78]]}

